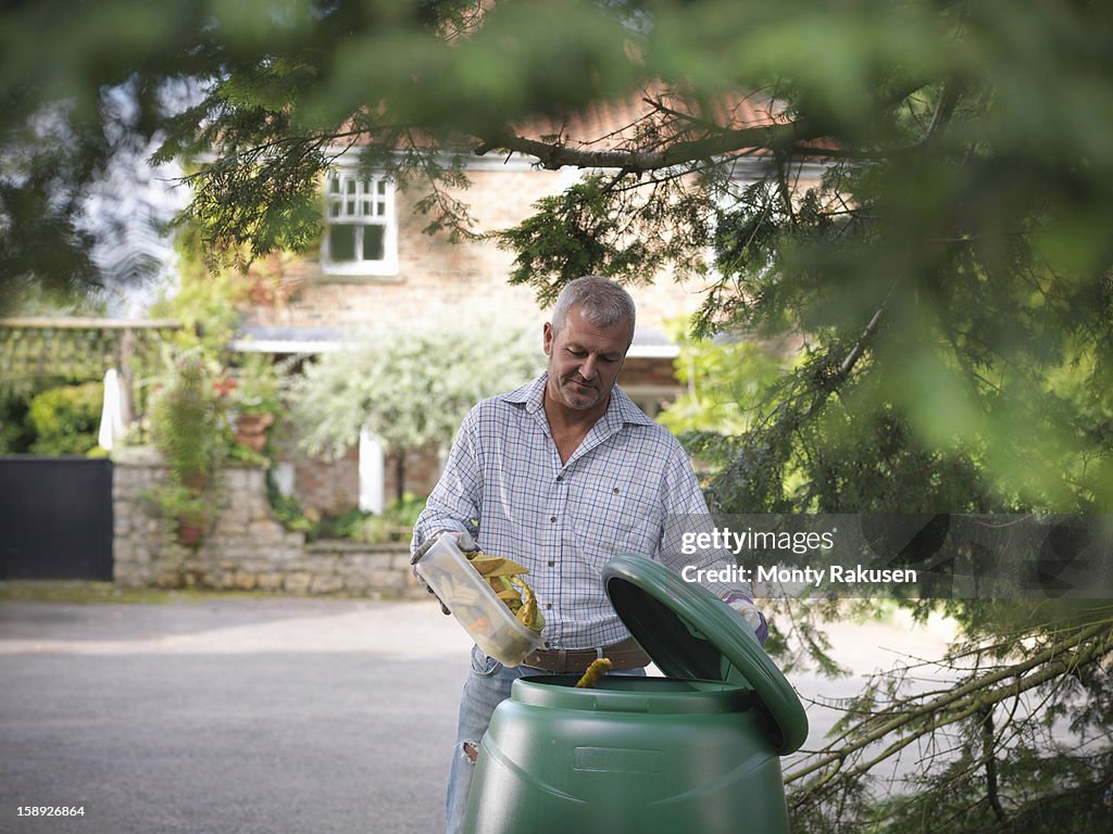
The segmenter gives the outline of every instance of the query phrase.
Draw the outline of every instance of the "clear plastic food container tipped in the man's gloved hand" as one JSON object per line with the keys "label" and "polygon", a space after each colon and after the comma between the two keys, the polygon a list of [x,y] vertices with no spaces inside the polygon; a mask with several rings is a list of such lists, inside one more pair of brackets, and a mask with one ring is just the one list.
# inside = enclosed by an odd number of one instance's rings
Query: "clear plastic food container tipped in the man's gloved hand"
{"label": "clear plastic food container tipped in the man's gloved hand", "polygon": [[475,645],[504,666],[518,666],[530,652],[544,646],[541,635],[519,623],[467,563],[451,534],[439,536],[415,568]]}

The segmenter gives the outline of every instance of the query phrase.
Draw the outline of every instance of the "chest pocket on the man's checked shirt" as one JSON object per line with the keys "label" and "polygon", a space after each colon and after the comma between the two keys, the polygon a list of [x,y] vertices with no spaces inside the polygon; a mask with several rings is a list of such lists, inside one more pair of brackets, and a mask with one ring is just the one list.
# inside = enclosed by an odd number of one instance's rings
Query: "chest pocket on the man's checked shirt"
{"label": "chest pocket on the man's checked shirt", "polygon": [[647,485],[597,481],[570,494],[569,516],[585,562],[601,567],[620,553],[657,556],[663,518]]}

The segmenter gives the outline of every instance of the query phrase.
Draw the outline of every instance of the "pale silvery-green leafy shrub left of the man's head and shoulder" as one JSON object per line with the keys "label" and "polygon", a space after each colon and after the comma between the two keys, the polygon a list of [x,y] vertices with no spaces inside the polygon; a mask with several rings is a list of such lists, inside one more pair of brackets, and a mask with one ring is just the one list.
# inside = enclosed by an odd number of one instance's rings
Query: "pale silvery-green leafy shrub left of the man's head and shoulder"
{"label": "pale silvery-green leafy shrub left of the man's head and shoulder", "polygon": [[366,426],[390,453],[447,446],[483,397],[543,367],[540,338],[466,309],[417,331],[383,332],[324,354],[289,387],[292,416],[311,454],[339,457]]}

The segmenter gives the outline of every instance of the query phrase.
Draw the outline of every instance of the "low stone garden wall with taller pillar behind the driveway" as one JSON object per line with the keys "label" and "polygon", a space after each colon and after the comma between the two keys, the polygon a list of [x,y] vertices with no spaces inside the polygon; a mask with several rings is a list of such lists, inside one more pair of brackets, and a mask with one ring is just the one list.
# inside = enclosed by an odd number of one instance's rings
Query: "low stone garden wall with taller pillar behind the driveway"
{"label": "low stone garden wall with taller pillar behind the driveway", "polygon": [[270,512],[259,467],[225,469],[216,520],[199,547],[186,547],[176,523],[147,497],[165,473],[157,454],[125,448],[112,460],[114,576],[121,586],[426,596],[405,545],[307,544],[303,534],[286,530]]}

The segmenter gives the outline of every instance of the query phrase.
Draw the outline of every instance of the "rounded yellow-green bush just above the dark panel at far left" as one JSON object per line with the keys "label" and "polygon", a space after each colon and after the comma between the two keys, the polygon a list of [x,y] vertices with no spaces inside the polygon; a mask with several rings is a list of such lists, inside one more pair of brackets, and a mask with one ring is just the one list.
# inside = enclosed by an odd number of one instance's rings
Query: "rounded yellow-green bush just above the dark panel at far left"
{"label": "rounded yellow-green bush just above the dark panel at far left", "polygon": [[30,401],[27,423],[36,455],[85,455],[97,448],[104,385],[83,383],[48,388]]}

